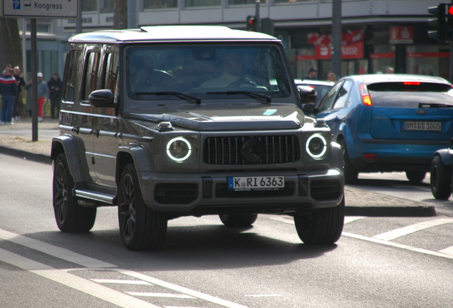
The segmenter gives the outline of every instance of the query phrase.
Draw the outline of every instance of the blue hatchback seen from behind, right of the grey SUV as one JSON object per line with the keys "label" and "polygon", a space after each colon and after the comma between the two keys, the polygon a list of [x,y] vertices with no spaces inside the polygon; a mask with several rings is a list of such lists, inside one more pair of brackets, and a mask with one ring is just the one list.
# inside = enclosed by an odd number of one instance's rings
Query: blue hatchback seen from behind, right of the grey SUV
{"label": "blue hatchback seen from behind, right of the grey SUV", "polygon": [[361,172],[392,171],[421,182],[453,136],[453,85],[431,76],[347,76],[303,111],[325,120],[342,145],[346,183]]}

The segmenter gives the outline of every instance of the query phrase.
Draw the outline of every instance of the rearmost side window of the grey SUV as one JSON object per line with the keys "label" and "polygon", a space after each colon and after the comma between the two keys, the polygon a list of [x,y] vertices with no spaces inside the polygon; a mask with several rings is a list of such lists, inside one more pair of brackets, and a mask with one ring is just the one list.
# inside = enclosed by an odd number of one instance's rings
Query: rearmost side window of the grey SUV
{"label": "rearmost side window of the grey SUV", "polygon": [[82,51],[71,50],[66,58],[65,78],[63,83],[62,98],[63,101],[73,102],[75,100],[75,91],[78,86],[78,73],[80,72],[80,60],[82,60]]}

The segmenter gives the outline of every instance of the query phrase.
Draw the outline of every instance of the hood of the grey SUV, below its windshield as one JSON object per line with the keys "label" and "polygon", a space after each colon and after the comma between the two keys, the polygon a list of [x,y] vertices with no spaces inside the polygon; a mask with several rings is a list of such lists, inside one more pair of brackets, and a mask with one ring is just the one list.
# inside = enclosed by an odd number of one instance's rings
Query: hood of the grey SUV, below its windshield
{"label": "hood of the grey SUV, below its windshield", "polygon": [[130,113],[129,117],[152,122],[169,121],[174,126],[191,130],[298,129],[304,124],[303,112],[292,104],[189,106],[174,110],[165,108],[159,114]]}

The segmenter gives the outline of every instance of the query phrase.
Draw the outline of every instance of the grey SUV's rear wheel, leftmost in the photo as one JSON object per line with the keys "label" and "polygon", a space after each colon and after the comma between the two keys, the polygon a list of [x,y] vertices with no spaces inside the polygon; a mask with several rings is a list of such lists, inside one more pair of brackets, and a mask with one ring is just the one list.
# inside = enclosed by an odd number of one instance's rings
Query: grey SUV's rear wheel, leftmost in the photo
{"label": "grey SUV's rear wheel, leftmost in the photo", "polygon": [[63,232],[88,232],[96,220],[96,208],[80,207],[73,195],[74,179],[66,155],[61,153],[53,166],[53,213]]}

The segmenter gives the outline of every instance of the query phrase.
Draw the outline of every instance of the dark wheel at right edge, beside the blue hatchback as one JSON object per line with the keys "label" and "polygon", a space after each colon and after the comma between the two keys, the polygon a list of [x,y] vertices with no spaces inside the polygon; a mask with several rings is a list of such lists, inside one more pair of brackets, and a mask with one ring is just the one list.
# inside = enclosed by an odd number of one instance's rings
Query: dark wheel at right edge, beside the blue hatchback
{"label": "dark wheel at right edge, beside the blue hatchback", "polygon": [[444,165],[439,156],[431,164],[431,193],[439,200],[448,200],[452,195],[452,166]]}

